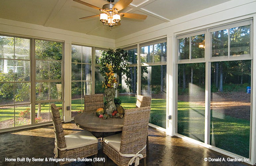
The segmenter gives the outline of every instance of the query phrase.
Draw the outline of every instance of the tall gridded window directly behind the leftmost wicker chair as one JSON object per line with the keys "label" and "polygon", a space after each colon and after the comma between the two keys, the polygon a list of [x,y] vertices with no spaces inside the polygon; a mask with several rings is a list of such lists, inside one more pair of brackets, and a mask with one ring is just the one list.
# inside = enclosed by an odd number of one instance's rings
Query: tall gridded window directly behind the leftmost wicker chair
{"label": "tall gridded window directly behind the leftmost wicker chair", "polygon": [[[50,103],[62,115],[62,42],[35,40],[36,123],[51,121]],[[62,117],[63,118],[63,117]]]}

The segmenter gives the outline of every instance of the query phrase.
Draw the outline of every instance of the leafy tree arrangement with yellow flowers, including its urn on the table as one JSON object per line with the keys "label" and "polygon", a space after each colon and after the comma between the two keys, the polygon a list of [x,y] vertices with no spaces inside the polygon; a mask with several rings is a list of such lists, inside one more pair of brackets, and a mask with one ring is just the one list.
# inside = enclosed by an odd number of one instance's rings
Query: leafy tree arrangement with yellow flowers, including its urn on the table
{"label": "leafy tree arrangement with yellow flowers, including its urn on the table", "polygon": [[99,64],[101,65],[100,73],[104,76],[105,81],[105,98],[106,98],[106,113],[111,115],[116,106],[114,103],[114,98],[116,95],[116,90],[118,88],[117,77],[121,76],[122,73],[127,73],[128,63],[128,53],[123,49],[109,49],[108,51],[103,51],[101,57],[99,58]]}

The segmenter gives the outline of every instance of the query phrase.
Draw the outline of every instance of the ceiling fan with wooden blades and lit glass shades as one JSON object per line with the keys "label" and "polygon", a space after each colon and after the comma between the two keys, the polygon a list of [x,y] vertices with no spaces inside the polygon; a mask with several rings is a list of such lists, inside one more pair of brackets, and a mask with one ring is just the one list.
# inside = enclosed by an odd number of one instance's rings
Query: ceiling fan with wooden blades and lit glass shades
{"label": "ceiling fan with wooden blades and lit glass shades", "polygon": [[89,6],[91,8],[97,9],[102,12],[101,14],[98,14],[98,15],[82,17],[79,19],[88,19],[88,18],[100,16],[100,21],[103,23],[103,25],[107,25],[111,29],[115,25],[121,25],[120,24],[121,17],[126,17],[131,19],[140,19],[140,20],[145,20],[147,18],[146,15],[142,15],[142,14],[119,13],[121,10],[126,8],[132,2],[132,0],[119,0],[116,4],[112,4],[112,2],[114,2],[115,0],[108,0],[110,3],[103,5],[102,8],[99,8],[97,6],[94,6],[92,4],[86,3],[81,0],[73,0],[73,1]]}

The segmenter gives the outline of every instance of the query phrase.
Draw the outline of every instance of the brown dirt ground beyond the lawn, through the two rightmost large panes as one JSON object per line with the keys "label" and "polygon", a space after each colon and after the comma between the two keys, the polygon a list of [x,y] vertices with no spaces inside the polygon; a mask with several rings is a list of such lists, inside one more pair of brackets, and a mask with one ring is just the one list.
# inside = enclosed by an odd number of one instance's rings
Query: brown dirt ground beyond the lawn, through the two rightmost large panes
{"label": "brown dirt ground beyond the lawn, through the two rightmost large panes", "polygon": [[[245,92],[212,93],[211,109],[214,112],[229,115],[231,117],[250,120],[251,94]],[[204,94],[193,97],[188,95],[178,96],[179,101],[190,101],[196,105],[205,105]]]}

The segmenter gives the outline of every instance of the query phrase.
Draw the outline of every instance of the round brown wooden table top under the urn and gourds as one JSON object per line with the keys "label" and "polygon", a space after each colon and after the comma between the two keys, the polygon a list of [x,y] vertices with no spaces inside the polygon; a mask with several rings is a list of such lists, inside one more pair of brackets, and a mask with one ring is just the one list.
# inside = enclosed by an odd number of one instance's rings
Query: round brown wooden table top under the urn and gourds
{"label": "round brown wooden table top under the urn and gourds", "polygon": [[95,111],[84,111],[74,118],[78,127],[94,132],[122,131],[124,118],[103,119],[96,116]]}

